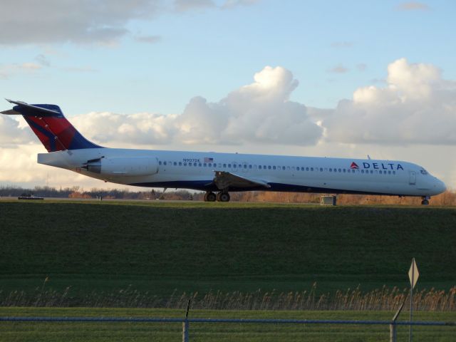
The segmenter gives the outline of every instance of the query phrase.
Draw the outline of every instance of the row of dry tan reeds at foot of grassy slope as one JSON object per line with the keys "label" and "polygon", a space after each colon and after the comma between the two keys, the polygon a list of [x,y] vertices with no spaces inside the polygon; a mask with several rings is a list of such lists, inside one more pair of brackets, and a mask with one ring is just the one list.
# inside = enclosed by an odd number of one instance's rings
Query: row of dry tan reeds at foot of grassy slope
{"label": "row of dry tan reeds at foot of grassy slope", "polygon": [[[11,291],[5,294],[0,290],[0,306],[88,306],[124,308],[167,308],[185,309],[188,299],[192,299],[192,309],[219,310],[396,310],[404,301],[408,303],[409,289],[398,287],[375,289],[363,292],[361,289],[347,289],[333,294],[316,294],[316,284],[310,291],[280,292],[261,291],[250,293],[240,291],[209,291],[207,294],[177,293],[168,298],[140,292],[128,286],[105,293],[92,291],[79,297],[71,294],[71,287],[63,292],[37,288],[32,294],[24,291]],[[423,289],[413,294],[413,306],[420,311],[456,311],[456,286],[450,291]],[[408,306],[405,306],[407,309]]]}

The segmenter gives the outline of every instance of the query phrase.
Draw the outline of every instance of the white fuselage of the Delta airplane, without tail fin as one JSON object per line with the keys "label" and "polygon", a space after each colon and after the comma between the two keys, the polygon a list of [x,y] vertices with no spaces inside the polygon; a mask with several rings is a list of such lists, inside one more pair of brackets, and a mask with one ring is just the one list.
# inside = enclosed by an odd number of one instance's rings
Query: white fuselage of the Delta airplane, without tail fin
{"label": "white fuselage of the Delta airplane, without tail fin", "polygon": [[[84,168],[88,161],[98,159],[102,161],[99,172]],[[147,165],[142,167],[141,160],[147,160]],[[38,162],[107,182],[142,187],[217,191],[214,172],[226,171],[269,185],[268,189],[232,187],[229,191],[408,196],[432,196],[445,191],[445,184],[423,167],[398,160],[90,148],[40,153]]]}

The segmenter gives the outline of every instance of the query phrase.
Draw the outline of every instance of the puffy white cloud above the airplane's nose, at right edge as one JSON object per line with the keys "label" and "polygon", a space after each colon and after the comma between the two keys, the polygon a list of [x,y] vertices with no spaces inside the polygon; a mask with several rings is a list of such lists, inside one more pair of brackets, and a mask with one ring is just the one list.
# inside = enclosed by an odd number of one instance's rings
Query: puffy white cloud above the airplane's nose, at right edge
{"label": "puffy white cloud above the airplane's nose, at right edge", "polygon": [[398,59],[387,85],[367,86],[341,100],[323,120],[326,139],[346,143],[456,144],[456,82],[435,66]]}

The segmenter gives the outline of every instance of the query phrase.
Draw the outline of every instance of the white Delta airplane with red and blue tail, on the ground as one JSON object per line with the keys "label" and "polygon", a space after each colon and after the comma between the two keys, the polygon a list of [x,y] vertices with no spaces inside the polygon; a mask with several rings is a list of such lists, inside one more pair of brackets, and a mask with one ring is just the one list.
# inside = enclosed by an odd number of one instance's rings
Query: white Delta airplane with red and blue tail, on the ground
{"label": "white Delta airplane with red and blue tail, on the ground", "polygon": [[39,164],[105,182],[201,190],[207,202],[229,202],[229,192],[263,190],[415,196],[429,204],[446,189],[420,165],[401,160],[103,147],[84,138],[58,105],[8,101],[14,108],[0,113],[22,115],[48,150],[38,153]]}

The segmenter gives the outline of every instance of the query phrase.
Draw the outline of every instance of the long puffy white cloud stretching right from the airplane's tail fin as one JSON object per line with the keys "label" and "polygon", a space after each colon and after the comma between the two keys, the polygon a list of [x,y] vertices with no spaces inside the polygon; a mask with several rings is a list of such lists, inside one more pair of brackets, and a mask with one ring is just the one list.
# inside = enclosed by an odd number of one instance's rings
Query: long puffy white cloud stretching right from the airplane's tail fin
{"label": "long puffy white cloud stretching right from the airplane's tail fin", "polygon": [[73,123],[101,144],[239,145],[247,142],[314,145],[322,128],[307,108],[289,100],[298,86],[290,71],[267,66],[218,102],[192,98],[181,115],[88,113]]}

